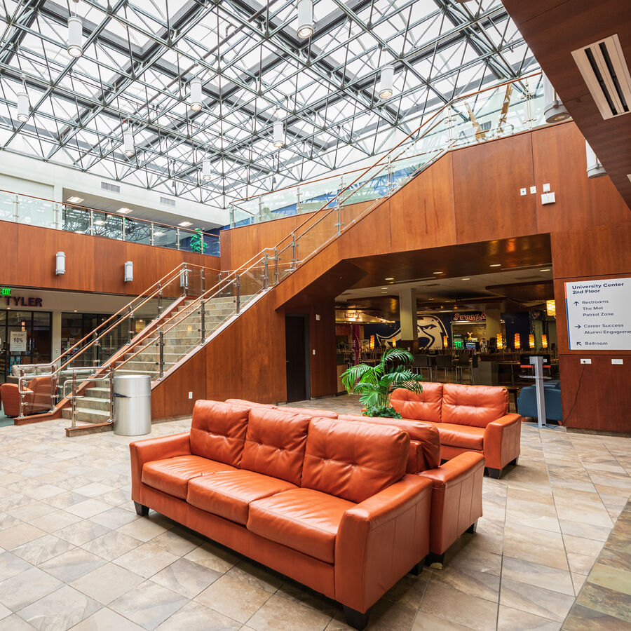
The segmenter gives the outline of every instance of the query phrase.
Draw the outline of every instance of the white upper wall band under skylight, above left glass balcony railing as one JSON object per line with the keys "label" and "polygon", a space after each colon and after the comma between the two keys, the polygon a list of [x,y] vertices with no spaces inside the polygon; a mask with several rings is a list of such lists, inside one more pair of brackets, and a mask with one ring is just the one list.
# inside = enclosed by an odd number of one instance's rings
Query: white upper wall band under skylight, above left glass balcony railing
{"label": "white upper wall band under skylight, above left glass balcony railing", "polygon": [[[173,197],[158,191],[144,189],[141,186],[132,186],[123,182],[114,182],[107,177],[83,173],[69,167],[44,162],[36,158],[28,158],[13,154],[10,151],[0,151],[0,174],[6,177],[6,182],[15,182],[15,186],[20,185],[20,190],[13,190],[15,193],[34,195],[37,197],[48,197],[54,201],[62,201],[63,189],[73,191],[84,191],[87,194],[109,198],[121,203],[121,205],[131,204],[151,208],[156,212],[165,209],[160,203],[161,197],[175,199],[175,208],[169,207],[170,215],[174,213],[183,217],[198,219],[204,224],[218,224],[224,226],[229,222],[228,212],[221,208],[214,208],[211,205],[186,200],[181,197]],[[18,178],[16,180],[15,178]],[[101,188],[101,182],[111,182],[121,186],[121,192],[108,193]],[[41,187],[46,186],[46,195],[41,194]],[[5,190],[12,190],[7,186],[0,186]],[[157,219],[157,217],[156,217]],[[168,222],[167,222],[168,223]]]}

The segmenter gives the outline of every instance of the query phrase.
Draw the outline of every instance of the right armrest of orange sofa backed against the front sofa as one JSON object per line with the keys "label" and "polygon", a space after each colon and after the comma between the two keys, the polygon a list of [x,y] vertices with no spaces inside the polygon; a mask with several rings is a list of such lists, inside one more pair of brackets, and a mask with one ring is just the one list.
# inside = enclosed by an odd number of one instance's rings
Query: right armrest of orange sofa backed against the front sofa
{"label": "right armrest of orange sofa backed against the front sofa", "polygon": [[442,555],[482,517],[484,456],[464,452],[419,475],[432,481],[430,552]]}

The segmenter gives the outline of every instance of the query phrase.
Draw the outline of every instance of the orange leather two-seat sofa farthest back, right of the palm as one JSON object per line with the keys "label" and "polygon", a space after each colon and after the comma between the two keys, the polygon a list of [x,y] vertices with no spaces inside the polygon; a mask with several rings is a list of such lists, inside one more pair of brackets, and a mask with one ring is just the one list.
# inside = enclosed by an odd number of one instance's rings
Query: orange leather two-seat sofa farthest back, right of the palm
{"label": "orange leather two-seat sofa farthest back, right of the palm", "polygon": [[508,414],[508,391],[500,386],[423,383],[416,394],[399,388],[391,404],[404,419],[431,423],[440,436],[442,458],[483,454],[487,472],[498,478],[520,456],[522,417]]}

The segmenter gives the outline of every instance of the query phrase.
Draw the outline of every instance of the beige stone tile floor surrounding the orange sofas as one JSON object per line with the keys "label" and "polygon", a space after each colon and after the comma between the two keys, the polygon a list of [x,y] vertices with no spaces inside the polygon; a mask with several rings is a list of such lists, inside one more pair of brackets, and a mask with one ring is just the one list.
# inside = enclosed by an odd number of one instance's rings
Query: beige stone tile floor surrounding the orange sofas
{"label": "beige stone tile floor surrounding the orange sofas", "polygon": [[[358,409],[351,397],[292,405]],[[131,439],[66,438],[64,425],[0,428],[0,631],[348,628],[336,603],[161,515],[137,517]],[[188,426],[158,423],[151,435]],[[631,494],[630,447],[628,438],[524,425],[519,466],[484,478],[477,534],[449,550],[442,571],[402,578],[369,628],[631,628],[628,575],[598,566],[590,575]],[[624,536],[614,531],[609,552],[620,571],[631,569]],[[618,606],[601,626],[568,617],[588,575],[601,587],[617,581]],[[584,593],[578,604],[602,611],[606,598]]]}

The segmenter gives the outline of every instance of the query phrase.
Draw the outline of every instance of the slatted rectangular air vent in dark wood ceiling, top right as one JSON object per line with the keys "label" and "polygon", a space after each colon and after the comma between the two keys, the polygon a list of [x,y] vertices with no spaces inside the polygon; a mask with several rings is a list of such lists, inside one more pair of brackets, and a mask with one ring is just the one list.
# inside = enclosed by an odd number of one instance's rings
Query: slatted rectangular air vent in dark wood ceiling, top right
{"label": "slatted rectangular air vent in dark wood ceiling, top right", "polygon": [[631,76],[618,35],[572,51],[603,118],[628,114],[631,107]]}

